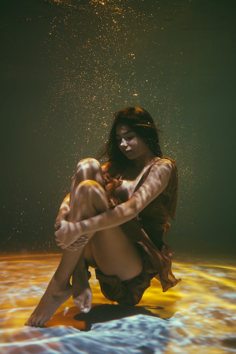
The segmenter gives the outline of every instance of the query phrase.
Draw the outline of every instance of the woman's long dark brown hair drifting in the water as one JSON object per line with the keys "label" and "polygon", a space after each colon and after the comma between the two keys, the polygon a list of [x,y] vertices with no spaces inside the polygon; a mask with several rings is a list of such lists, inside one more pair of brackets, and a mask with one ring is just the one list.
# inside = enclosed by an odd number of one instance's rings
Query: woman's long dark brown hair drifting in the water
{"label": "woman's long dark brown hair drifting in the water", "polygon": [[98,154],[97,159],[101,159],[102,157],[108,158],[108,161],[113,163],[116,172],[122,172],[128,165],[133,163],[119,149],[116,139],[116,127],[118,124],[130,126],[144,140],[146,146],[154,156],[162,156],[158,136],[160,130],[157,130],[151,115],[143,108],[128,107],[115,112],[108,141]]}

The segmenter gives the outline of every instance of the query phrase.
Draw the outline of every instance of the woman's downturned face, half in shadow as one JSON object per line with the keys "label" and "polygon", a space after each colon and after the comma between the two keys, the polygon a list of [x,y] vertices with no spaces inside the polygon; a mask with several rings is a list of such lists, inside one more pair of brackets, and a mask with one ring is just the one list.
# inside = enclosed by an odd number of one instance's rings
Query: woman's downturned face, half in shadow
{"label": "woman's downturned face, half in shadow", "polygon": [[119,149],[129,160],[149,152],[144,140],[129,125],[117,124],[116,139]]}

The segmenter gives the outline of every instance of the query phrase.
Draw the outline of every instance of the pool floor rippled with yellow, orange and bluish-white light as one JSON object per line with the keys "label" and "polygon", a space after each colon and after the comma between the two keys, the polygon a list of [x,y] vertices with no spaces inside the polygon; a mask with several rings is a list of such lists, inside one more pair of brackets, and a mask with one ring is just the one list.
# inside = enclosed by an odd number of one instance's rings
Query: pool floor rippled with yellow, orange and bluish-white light
{"label": "pool floor rippled with yellow, orange and bluish-white light", "polygon": [[152,280],[133,308],[105,299],[92,271],[90,313],[80,314],[69,299],[47,328],[25,327],[59,259],[58,255],[0,257],[0,352],[93,354],[100,346],[110,354],[125,353],[125,348],[129,353],[236,353],[233,262],[174,261],[173,273],[182,282],[163,293],[160,283]]}

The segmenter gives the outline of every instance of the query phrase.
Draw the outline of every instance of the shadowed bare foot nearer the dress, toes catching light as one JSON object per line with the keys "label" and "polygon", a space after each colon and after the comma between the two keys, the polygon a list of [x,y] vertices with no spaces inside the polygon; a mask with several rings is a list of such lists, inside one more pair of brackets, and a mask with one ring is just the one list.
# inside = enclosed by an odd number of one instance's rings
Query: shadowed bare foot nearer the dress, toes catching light
{"label": "shadowed bare foot nearer the dress, toes catching light", "polygon": [[91,310],[92,291],[88,282],[87,270],[84,265],[79,264],[75,268],[72,277],[72,292],[74,304],[79,307],[81,312]]}

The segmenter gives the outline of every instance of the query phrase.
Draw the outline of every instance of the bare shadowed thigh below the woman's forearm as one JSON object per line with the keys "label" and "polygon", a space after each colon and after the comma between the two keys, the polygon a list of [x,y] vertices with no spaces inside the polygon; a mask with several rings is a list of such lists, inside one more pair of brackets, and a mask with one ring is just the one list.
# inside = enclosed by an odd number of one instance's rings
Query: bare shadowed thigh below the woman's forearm
{"label": "bare shadowed thigh below the woman's forearm", "polygon": [[121,227],[97,232],[92,238],[92,253],[103,274],[116,275],[121,281],[134,278],[143,270],[142,254]]}

